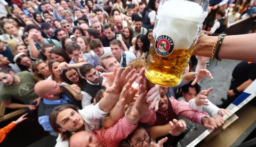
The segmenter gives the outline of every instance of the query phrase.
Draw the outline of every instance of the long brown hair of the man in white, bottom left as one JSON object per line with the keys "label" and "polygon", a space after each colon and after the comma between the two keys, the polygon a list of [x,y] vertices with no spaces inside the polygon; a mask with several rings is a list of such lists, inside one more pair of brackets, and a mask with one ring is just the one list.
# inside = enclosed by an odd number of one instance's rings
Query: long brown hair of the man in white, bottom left
{"label": "long brown hair of the man in white, bottom left", "polygon": [[54,132],[60,133],[62,141],[68,140],[68,138],[70,138],[70,136],[72,135],[71,132],[69,132],[69,131],[61,132],[60,130],[58,130],[58,128],[61,128],[61,127],[60,127],[60,125],[57,124],[57,116],[59,115],[59,113],[61,111],[66,110],[66,109],[73,109],[76,112],[78,112],[78,110],[79,110],[79,108],[73,104],[62,104],[62,105],[58,105],[57,107],[55,107],[49,116],[50,125],[52,126]]}

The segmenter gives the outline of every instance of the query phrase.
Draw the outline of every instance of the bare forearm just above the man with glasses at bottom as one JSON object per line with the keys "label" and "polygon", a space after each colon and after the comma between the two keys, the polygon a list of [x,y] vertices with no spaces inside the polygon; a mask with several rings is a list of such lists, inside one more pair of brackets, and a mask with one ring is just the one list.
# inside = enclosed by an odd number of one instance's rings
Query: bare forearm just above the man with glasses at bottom
{"label": "bare forearm just above the man with glasses at bottom", "polygon": [[163,126],[153,126],[149,127],[148,131],[150,134],[150,137],[153,140],[156,140],[156,138],[165,136],[169,134],[169,131],[171,130],[171,126],[169,124],[163,125]]}

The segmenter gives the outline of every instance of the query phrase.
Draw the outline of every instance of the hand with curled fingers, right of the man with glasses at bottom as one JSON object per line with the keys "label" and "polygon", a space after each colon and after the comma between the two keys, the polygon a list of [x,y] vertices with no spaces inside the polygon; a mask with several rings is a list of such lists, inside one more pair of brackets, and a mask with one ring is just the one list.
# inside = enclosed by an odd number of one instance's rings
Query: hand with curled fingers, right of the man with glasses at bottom
{"label": "hand with curled fingers, right of the man with glasses at bottom", "polygon": [[179,136],[182,132],[184,132],[185,128],[187,127],[184,121],[178,121],[177,119],[169,121],[169,124],[171,126],[171,130],[169,131],[169,133],[172,136]]}

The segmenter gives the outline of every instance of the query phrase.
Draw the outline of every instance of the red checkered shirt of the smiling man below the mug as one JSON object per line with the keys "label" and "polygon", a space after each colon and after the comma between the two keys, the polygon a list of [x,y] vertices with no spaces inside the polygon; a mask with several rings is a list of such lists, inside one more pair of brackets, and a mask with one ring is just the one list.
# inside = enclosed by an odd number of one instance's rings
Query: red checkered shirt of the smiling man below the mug
{"label": "red checkered shirt of the smiling man below the mug", "polygon": [[[206,112],[198,112],[190,108],[188,104],[177,101],[173,96],[171,96],[169,100],[172,104],[173,112],[176,115],[186,117],[187,119],[191,120],[193,123],[202,124],[201,119],[203,117],[210,117]],[[168,115],[167,112],[168,111],[165,111],[165,112],[157,111],[157,113],[161,113],[165,116]],[[172,121],[172,120],[169,120],[169,121]],[[143,116],[140,119],[140,122],[145,123],[148,126],[153,126],[156,123],[156,112],[153,110],[147,111],[145,116]]]}

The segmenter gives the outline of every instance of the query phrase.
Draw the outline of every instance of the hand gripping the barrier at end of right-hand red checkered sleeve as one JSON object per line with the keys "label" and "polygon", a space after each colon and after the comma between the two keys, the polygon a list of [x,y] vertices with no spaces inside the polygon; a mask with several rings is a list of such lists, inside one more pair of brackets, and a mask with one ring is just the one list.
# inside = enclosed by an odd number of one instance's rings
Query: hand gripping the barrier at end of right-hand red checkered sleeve
{"label": "hand gripping the barrier at end of right-hand red checkered sleeve", "polygon": [[215,128],[221,127],[224,124],[224,120],[220,115],[213,116],[211,118],[202,118],[202,123],[206,129],[214,130]]}

